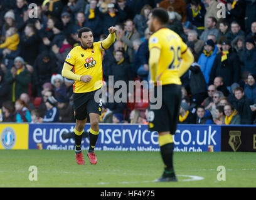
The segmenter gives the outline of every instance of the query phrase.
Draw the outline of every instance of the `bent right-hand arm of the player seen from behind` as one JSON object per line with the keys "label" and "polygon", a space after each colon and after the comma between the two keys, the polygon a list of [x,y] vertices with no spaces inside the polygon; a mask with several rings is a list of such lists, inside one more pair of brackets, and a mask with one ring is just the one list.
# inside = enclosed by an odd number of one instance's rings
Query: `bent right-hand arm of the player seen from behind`
{"label": "bent right-hand arm of the player seen from behind", "polygon": [[184,52],[181,52],[181,64],[179,66],[178,75],[181,77],[194,62],[194,56],[191,53],[190,49],[187,47]]}

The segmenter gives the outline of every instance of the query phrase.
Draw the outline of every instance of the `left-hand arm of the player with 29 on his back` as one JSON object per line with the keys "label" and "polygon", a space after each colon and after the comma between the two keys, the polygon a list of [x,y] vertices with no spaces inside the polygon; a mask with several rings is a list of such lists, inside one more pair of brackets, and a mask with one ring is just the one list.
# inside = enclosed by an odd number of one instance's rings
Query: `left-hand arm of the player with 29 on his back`
{"label": "left-hand arm of the player with 29 on his back", "polygon": [[157,64],[159,62],[161,50],[158,47],[152,47],[149,51],[149,71],[151,74],[151,81],[157,81]]}

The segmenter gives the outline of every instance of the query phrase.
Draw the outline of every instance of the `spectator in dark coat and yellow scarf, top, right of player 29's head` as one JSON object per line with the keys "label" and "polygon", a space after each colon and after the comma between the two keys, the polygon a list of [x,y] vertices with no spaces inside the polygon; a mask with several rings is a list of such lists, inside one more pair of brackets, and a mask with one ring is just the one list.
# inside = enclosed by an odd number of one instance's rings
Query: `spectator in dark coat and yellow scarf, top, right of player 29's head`
{"label": "spectator in dark coat and yellow scarf, top, right of player 29's head", "polygon": [[205,5],[200,0],[191,0],[186,6],[187,21],[191,22],[199,34],[205,29]]}

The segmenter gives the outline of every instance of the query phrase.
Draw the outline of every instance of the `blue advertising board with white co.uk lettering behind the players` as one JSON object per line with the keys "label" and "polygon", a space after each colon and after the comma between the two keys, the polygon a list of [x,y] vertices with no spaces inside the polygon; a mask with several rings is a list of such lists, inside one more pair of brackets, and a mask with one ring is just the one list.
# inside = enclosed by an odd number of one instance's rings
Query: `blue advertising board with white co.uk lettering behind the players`
{"label": "blue advertising board with white co.uk lettering behind the players", "polygon": [[[75,141],[62,135],[73,132],[75,124],[30,124],[29,149],[73,150]],[[85,126],[89,131],[90,124]],[[220,151],[221,126],[178,125],[174,151]],[[87,150],[89,139],[83,138],[81,147]],[[158,134],[142,124],[100,124],[95,150],[104,151],[159,151]]]}

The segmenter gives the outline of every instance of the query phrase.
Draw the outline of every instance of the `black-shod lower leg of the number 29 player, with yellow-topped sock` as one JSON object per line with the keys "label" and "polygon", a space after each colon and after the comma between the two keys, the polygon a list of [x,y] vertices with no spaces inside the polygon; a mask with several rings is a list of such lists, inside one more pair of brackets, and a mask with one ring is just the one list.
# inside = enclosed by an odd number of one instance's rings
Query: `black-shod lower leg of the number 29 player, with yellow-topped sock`
{"label": "black-shod lower leg of the number 29 player, with yellow-topped sock", "polygon": [[159,137],[159,146],[161,151],[161,157],[164,162],[164,173],[161,178],[156,179],[156,182],[165,182],[165,181],[178,181],[173,168],[173,136],[169,131],[160,132]]}

